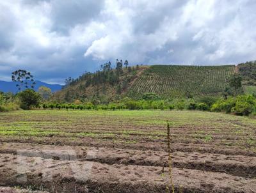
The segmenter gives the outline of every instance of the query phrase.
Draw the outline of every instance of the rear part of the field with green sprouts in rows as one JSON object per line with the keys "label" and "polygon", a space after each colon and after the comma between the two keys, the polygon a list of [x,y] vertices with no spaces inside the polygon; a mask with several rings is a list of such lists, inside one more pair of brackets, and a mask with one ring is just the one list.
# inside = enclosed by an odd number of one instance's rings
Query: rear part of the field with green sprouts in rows
{"label": "rear part of the field with green sprouts in rows", "polygon": [[[256,120],[201,111],[59,111],[1,112],[1,141],[166,148],[166,121],[176,144],[197,144],[255,151]],[[234,143],[234,141],[236,143]]]}

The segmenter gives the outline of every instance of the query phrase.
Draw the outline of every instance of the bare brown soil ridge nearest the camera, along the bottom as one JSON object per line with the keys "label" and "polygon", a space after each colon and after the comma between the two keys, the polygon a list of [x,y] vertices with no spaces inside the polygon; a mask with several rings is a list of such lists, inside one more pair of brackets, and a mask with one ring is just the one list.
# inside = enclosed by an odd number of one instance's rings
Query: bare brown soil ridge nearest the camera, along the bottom
{"label": "bare brown soil ridge nearest the camera, along the bottom", "polygon": [[[168,168],[52,160],[1,154],[0,185],[33,185],[50,192],[166,192]],[[20,165],[20,163],[23,163]],[[182,192],[255,192],[256,180],[195,169],[173,169]],[[204,178],[204,182],[202,182]]]}

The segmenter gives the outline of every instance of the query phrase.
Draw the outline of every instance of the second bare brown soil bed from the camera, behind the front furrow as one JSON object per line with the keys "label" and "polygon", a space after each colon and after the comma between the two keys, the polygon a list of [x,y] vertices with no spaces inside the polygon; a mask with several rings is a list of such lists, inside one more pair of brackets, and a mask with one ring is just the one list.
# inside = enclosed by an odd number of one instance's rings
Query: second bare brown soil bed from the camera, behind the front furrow
{"label": "second bare brown soil bed from the camera, behind the front furrow", "polygon": [[[88,151],[95,151],[97,155],[88,157]],[[164,151],[3,143],[0,147],[0,153],[45,159],[53,158],[55,160],[86,160],[109,165],[168,167],[168,153]],[[172,158],[173,167],[177,168],[218,171],[234,176],[256,178],[255,157],[175,151]]]}

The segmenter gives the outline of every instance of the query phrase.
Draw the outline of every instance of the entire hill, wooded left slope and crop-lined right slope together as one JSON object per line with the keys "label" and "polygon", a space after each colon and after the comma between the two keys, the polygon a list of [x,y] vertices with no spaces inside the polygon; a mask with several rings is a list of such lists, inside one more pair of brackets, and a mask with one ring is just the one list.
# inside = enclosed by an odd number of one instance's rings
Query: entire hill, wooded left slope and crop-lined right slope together
{"label": "entire hill, wooded left slope and crop-lined right slope together", "polygon": [[235,65],[137,65],[122,68],[121,73],[112,69],[81,75],[70,82],[69,86],[56,92],[54,99],[72,102],[84,98],[108,102],[124,97],[138,99],[145,93],[156,93],[163,99],[220,96],[228,84],[228,79],[236,72],[244,77],[239,66]]}

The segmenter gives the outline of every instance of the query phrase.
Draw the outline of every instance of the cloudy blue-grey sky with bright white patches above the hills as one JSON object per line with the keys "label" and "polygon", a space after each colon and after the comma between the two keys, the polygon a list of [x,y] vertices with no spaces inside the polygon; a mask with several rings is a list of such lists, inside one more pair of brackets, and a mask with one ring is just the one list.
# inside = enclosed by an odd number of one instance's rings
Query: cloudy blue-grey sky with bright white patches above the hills
{"label": "cloudy blue-grey sky with bright white patches above the hills", "polygon": [[256,59],[255,0],[1,0],[0,80],[63,83],[106,61],[221,65]]}

